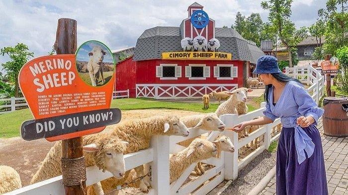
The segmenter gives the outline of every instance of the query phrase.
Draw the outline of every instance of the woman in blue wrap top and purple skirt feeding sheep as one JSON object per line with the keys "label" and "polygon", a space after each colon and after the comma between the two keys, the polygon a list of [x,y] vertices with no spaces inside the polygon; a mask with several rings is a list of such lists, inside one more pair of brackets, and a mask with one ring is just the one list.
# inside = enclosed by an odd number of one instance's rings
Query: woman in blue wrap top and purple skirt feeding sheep
{"label": "woman in blue wrap top and purple skirt feeding sheep", "polygon": [[262,56],[254,73],[266,85],[264,116],[233,127],[236,132],[246,126],[266,125],[281,118],[276,161],[277,195],[328,195],[318,108],[299,80],[283,74],[273,56]]}

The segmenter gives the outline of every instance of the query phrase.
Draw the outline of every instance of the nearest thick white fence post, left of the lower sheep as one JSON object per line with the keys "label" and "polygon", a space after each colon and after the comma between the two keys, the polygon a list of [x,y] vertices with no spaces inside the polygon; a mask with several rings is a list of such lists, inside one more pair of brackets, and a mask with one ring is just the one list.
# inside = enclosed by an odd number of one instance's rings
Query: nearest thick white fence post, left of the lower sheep
{"label": "nearest thick white fence post, left of the lower sheep", "polygon": [[170,195],[169,185],[169,136],[153,136],[151,145],[154,151],[152,162],[152,187],[156,195]]}

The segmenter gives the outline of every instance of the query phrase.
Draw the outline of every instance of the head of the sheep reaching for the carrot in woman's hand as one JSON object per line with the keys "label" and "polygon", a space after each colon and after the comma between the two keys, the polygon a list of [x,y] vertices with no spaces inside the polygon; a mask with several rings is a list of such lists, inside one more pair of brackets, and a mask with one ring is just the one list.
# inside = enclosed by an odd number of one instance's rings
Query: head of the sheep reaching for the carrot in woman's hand
{"label": "head of the sheep reaching for the carrot in woman's hand", "polygon": [[200,130],[225,130],[226,125],[220,120],[216,113],[205,114],[198,124],[189,128],[189,130],[200,129]]}

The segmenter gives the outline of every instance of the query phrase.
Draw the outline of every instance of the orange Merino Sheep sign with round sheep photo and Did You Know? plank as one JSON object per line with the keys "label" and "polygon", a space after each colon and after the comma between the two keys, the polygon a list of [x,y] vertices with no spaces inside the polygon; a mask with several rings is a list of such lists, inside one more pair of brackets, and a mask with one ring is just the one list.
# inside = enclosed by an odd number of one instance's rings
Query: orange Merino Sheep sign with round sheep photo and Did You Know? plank
{"label": "orange Merino Sheep sign with round sheep photo and Did You Know? plank", "polygon": [[22,124],[22,138],[70,139],[118,123],[120,110],[110,109],[114,62],[104,44],[87,41],[75,55],[43,56],[26,63],[18,80],[34,120]]}

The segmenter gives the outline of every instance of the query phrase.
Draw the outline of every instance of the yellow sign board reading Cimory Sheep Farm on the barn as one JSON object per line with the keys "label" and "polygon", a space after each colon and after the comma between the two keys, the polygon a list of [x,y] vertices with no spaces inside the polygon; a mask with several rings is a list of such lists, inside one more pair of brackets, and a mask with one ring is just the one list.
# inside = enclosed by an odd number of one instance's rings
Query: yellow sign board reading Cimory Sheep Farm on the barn
{"label": "yellow sign board reading Cimory Sheep Farm on the barn", "polygon": [[222,52],[163,52],[163,60],[232,60],[231,53]]}

